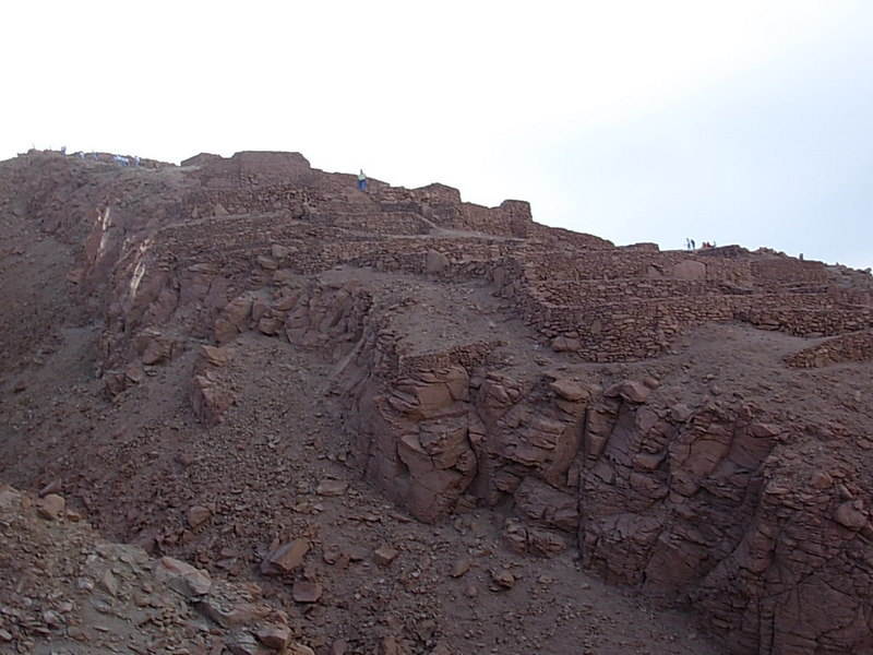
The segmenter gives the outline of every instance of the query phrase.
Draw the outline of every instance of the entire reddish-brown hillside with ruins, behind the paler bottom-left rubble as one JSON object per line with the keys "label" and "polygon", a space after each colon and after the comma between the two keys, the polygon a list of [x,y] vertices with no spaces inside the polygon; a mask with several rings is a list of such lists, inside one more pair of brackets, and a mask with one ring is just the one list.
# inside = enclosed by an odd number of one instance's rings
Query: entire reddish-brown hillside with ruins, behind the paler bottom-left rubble
{"label": "entire reddish-brown hillside with ruins, behind the paler bottom-left rubble", "polygon": [[256,585],[295,647],[873,650],[869,272],[292,153],[29,153],[0,229],[0,479]]}

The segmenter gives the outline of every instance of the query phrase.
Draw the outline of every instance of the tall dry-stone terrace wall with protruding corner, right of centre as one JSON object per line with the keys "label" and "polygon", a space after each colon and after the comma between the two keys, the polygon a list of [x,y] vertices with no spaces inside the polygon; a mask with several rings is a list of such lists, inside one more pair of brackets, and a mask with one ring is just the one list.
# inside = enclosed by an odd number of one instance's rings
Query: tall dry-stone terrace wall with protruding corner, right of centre
{"label": "tall dry-stone terrace wall with protruding corner, right of centre", "polygon": [[839,307],[828,294],[726,295],[711,283],[665,279],[545,284],[535,266],[504,261],[499,270],[491,276],[500,294],[528,324],[547,338],[573,340],[573,349],[595,361],[656,356],[707,322],[741,320],[797,336],[873,325],[869,308]]}

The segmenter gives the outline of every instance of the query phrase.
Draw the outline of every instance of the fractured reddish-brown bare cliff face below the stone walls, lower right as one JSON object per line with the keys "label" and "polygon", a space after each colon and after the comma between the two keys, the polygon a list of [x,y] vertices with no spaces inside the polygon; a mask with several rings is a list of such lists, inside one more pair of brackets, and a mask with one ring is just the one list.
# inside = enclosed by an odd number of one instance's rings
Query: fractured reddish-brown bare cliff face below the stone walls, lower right
{"label": "fractured reddish-brown bare cliff face below the stone walls, lower right", "polygon": [[835,462],[802,425],[737,400],[689,406],[651,378],[602,389],[487,359],[364,377],[392,346],[373,340],[344,391],[361,468],[419,520],[509,507],[512,550],[578,549],[612,583],[693,603],[737,653],[869,646],[859,437]]}

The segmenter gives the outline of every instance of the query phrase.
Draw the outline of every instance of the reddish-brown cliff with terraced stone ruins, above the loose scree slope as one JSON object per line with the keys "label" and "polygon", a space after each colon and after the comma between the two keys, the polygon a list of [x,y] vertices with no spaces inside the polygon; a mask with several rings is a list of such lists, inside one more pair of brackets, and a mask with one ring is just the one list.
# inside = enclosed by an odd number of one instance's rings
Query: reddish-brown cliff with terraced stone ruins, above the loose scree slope
{"label": "reddish-brown cliff with terraced stone ruins, above the loose scree slope", "polygon": [[280,340],[332,362],[350,461],[416,519],[493,508],[513,552],[576,552],[736,653],[873,648],[869,275],[617,249],[299,155],[105,184],[35,162],[57,186],[22,212],[69,243],[110,397],[190,360],[180,392],[219,425],[235,343]]}

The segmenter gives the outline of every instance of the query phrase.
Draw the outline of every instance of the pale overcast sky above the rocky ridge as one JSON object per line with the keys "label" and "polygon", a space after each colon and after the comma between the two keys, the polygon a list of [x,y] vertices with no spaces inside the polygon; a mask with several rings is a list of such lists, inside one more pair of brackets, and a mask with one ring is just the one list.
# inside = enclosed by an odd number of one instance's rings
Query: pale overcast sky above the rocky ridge
{"label": "pale overcast sky above the rocky ridge", "polygon": [[39,1],[0,159],[299,151],[608,238],[873,265],[873,2]]}

